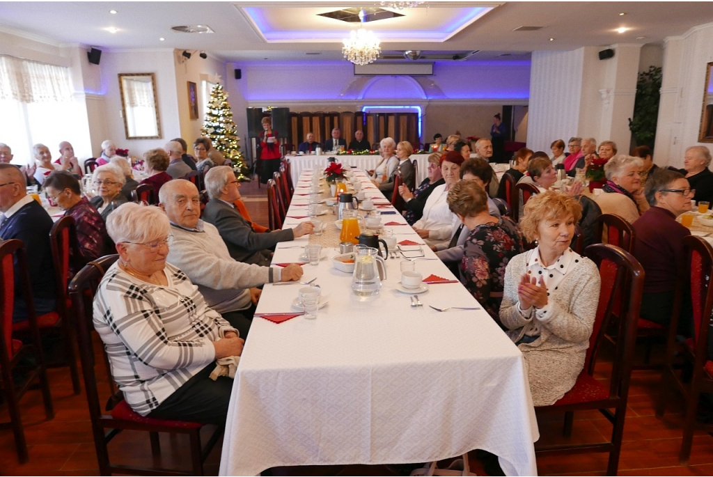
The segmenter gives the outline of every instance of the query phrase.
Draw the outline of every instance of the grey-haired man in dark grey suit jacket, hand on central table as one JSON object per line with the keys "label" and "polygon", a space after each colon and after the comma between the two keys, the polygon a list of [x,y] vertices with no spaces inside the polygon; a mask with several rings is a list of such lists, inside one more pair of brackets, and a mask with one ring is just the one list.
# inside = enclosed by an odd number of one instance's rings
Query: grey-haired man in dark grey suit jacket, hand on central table
{"label": "grey-haired man in dark grey suit jacket, hand on central table", "polygon": [[312,222],[302,222],[294,229],[255,232],[233,205],[240,199],[240,181],[235,180],[230,167],[209,170],[205,175],[205,188],[210,202],[205,205],[202,219],[215,225],[230,257],[238,262],[270,266],[270,249],[278,242],[288,242],[314,230]]}

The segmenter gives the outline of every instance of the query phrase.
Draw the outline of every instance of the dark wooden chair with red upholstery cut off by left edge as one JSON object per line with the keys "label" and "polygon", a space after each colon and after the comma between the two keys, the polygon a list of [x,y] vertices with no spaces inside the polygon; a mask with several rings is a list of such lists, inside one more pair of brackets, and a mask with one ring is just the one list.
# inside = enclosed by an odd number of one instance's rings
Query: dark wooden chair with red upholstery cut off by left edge
{"label": "dark wooden chair with red upholstery cut off by left edge", "polygon": [[[22,270],[19,274],[21,283],[15,283],[15,263]],[[47,419],[54,418],[52,407],[52,396],[49,390],[49,381],[45,369],[42,344],[40,342],[39,327],[35,318],[34,304],[32,303],[32,289],[30,287],[30,277],[27,273],[27,259],[25,249],[21,240],[5,240],[0,242],[0,310],[2,312],[2,322],[0,322],[0,377],[2,391],[5,402],[8,406],[10,421],[0,423],[0,429],[12,429],[15,435],[15,446],[17,457],[20,463],[26,463],[29,459],[27,454],[27,443],[25,432],[20,415],[19,400],[35,381],[39,383],[44,402],[45,416]],[[19,339],[12,338],[12,312],[15,303],[15,287],[22,289],[22,295],[27,301],[28,331],[31,337],[31,344],[23,344]],[[26,381],[16,384],[12,371],[27,354],[34,354],[37,364],[32,366],[26,374]],[[26,368],[26,363],[23,364]]]}

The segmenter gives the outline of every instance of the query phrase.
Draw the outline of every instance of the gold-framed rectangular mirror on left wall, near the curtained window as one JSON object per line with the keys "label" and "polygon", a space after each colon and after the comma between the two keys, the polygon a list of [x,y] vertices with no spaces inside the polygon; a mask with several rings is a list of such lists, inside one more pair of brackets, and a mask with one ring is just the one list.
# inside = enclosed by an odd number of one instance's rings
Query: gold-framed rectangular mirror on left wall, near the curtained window
{"label": "gold-framed rectangular mirror on left wall, near the curtained window", "polygon": [[119,93],[127,139],[160,139],[154,73],[119,73]]}

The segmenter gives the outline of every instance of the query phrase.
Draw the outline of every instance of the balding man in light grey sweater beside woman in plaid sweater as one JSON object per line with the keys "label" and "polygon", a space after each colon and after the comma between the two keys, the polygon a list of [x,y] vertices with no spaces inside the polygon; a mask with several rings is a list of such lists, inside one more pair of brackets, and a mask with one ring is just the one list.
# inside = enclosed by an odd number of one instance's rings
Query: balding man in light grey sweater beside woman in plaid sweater
{"label": "balding man in light grey sweater beside woman in plaid sweater", "polygon": [[260,298],[260,289],[255,287],[302,277],[302,267],[296,264],[279,269],[233,260],[217,229],[200,220],[200,196],[190,181],[171,180],[158,197],[171,222],[168,262],[198,285],[207,305],[237,327],[240,336],[247,333],[245,326],[249,327]]}

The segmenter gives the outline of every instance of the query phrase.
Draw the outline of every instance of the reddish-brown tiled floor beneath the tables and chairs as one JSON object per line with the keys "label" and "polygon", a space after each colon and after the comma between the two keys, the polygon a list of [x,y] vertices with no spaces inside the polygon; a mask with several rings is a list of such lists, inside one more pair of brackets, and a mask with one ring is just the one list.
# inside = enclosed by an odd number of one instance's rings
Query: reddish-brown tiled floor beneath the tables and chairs
{"label": "reddish-brown tiled floor beneath the tables and chairs", "polygon": [[[252,219],[265,223],[267,202],[261,200],[265,188],[255,183],[243,185],[242,194]],[[101,361],[100,361],[101,362]],[[611,365],[606,357],[597,364],[597,377],[605,379]],[[101,374],[103,366],[98,366]],[[2,475],[96,475],[98,473],[86,399],[72,394],[68,369],[49,371],[56,416],[46,421],[39,391],[29,391],[21,401],[30,461],[17,463],[12,432],[0,431],[0,474]],[[102,399],[108,395],[106,376],[101,376],[99,390]],[[681,445],[682,408],[672,404],[663,419],[654,416],[653,404],[660,386],[657,371],[635,371],[632,374],[629,406],[624,429],[624,443],[619,473],[622,476],[709,476],[713,475],[713,436],[698,431],[694,437],[690,466],[678,465]],[[0,404],[0,421],[8,419],[7,409]],[[539,420],[541,440],[562,441],[563,417],[543,416]],[[575,414],[573,442],[600,442],[611,432],[609,422],[597,412]],[[162,456],[156,464],[188,468],[187,444],[183,438],[161,437]],[[110,445],[113,461],[152,465],[148,435],[124,432]],[[549,456],[538,458],[540,475],[604,475],[607,454]],[[220,442],[209,456],[205,471],[217,475],[220,463]],[[471,457],[471,468],[483,475],[481,464]],[[274,469],[274,475],[394,475],[384,466],[324,466]]]}

